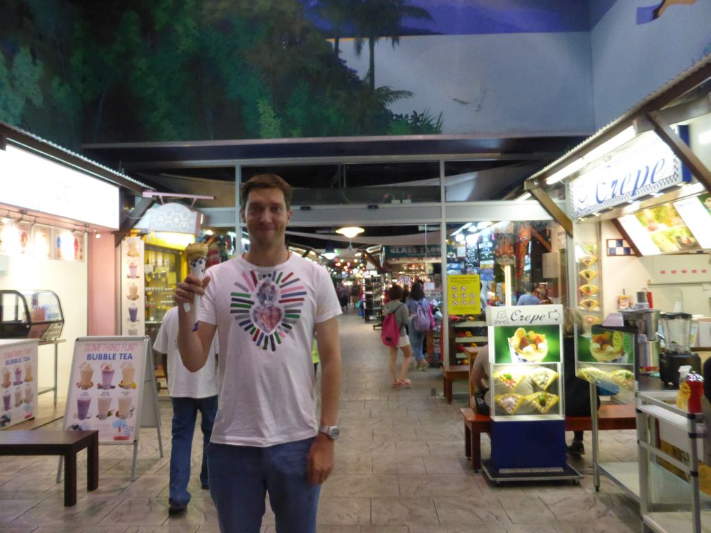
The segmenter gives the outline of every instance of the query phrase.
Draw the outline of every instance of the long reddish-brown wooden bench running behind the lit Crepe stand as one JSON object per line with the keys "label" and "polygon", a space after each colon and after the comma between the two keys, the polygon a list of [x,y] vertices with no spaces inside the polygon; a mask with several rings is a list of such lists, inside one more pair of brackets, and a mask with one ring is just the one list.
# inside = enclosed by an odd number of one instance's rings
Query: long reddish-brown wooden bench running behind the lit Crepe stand
{"label": "long reddish-brown wooden bench running behind the lit Crepe stand", "polygon": [[[491,417],[480,414],[469,407],[459,409],[464,418],[464,453],[471,457],[471,468],[481,470],[481,434],[489,433]],[[597,411],[597,429],[635,429],[637,417],[632,404],[605,404]],[[565,431],[590,431],[592,419],[589,416],[566,416]]]}

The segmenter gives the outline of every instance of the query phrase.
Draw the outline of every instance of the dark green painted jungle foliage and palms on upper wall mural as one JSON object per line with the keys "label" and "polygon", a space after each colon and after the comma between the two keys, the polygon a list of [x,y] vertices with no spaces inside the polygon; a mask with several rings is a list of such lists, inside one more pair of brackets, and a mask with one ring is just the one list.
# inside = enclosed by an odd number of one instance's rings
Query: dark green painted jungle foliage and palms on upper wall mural
{"label": "dark green painted jungle foliage and palms on upper wall mural", "polygon": [[[6,0],[0,119],[68,146],[439,133],[426,110],[388,111],[411,92],[375,87],[375,42],[397,45],[407,17],[429,14],[405,0]],[[368,43],[365,80],[338,58],[346,26]]]}

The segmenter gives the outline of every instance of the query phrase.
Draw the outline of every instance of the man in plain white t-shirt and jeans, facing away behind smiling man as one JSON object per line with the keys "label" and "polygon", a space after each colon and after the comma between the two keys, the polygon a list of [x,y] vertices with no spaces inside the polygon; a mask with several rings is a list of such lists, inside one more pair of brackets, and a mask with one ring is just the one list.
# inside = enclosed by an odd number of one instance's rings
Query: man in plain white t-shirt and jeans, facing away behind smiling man
{"label": "man in plain white t-shirt and jeans, facing away behind smiling man", "polygon": [[217,343],[213,343],[210,347],[205,366],[194,374],[190,372],[183,366],[178,352],[178,308],[173,307],[163,317],[153,348],[156,352],[166,354],[168,394],[173,403],[168,512],[177,515],[185,511],[190,502],[188,482],[198,411],[201,416],[200,429],[203,431],[200,484],[203,489],[210,488],[206,448],[213,432],[215,414],[218,412],[218,375],[215,357]]}

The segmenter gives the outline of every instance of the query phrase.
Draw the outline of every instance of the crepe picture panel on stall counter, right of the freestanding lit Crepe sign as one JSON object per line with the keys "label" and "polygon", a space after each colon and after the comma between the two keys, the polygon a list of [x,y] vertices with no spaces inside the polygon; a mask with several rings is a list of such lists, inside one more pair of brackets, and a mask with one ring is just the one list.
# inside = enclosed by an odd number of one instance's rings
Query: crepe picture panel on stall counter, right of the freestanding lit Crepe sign
{"label": "crepe picture panel on stall counter, right of the freestanding lit Crepe sign", "polygon": [[634,333],[593,326],[577,337],[577,377],[614,394],[634,389],[634,346]]}

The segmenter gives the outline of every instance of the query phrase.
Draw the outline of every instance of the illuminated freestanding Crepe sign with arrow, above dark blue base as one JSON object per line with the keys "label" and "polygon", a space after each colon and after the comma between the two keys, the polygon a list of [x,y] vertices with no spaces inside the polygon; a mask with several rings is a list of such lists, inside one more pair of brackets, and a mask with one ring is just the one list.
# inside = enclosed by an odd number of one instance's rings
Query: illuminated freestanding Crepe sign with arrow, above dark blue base
{"label": "illuminated freestanding Crepe sign with arrow, above dark blue base", "polygon": [[486,309],[495,421],[563,416],[562,319],[562,306]]}

